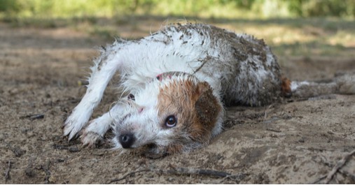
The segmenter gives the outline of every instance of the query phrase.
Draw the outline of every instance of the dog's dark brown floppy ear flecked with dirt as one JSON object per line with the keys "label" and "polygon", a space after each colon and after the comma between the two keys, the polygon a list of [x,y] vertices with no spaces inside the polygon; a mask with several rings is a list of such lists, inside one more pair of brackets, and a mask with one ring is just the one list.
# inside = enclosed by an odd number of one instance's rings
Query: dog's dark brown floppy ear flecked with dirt
{"label": "dog's dark brown floppy ear flecked with dirt", "polygon": [[208,131],[212,131],[216,124],[216,118],[221,112],[221,104],[207,82],[197,84],[197,94],[200,94],[195,103],[195,110],[200,124]]}

